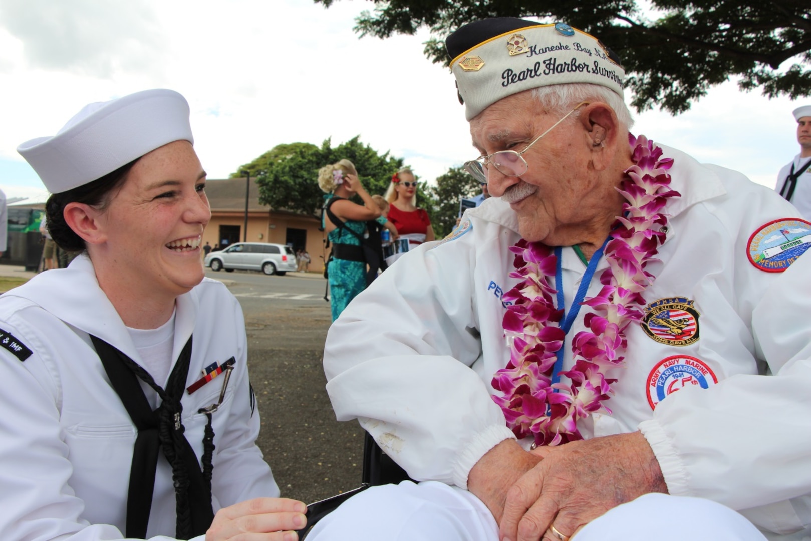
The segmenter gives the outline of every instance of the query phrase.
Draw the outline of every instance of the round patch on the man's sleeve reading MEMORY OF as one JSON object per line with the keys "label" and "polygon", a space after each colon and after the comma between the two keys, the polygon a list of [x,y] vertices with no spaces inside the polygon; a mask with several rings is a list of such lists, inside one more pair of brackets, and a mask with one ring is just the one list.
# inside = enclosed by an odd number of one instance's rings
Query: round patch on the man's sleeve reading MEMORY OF
{"label": "round patch on the man's sleeve reading MEMORY OF", "polygon": [[800,218],[770,221],[749,237],[749,262],[767,273],[782,273],[811,247],[811,222]]}

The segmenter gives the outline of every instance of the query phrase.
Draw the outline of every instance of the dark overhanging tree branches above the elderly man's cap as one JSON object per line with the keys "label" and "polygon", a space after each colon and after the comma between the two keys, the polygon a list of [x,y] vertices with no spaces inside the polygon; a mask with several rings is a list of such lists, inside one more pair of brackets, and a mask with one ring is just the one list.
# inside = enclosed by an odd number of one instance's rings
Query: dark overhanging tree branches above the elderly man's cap
{"label": "dark overhanging tree branches above the elderly man's cap", "polygon": [[[330,6],[334,0],[314,1]],[[640,111],[659,105],[683,112],[732,76],[740,77],[740,88],[761,88],[767,97],[811,95],[809,0],[373,1],[375,10],[363,11],[354,30],[388,37],[431,28],[425,53],[434,62],[449,61],[444,37],[476,19],[538,17],[572,24],[620,55],[632,104]]]}

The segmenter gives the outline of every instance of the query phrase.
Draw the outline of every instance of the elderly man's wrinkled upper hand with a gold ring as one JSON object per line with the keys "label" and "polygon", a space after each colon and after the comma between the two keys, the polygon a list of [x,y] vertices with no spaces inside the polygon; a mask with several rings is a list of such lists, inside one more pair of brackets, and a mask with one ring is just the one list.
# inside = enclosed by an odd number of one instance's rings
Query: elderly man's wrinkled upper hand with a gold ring
{"label": "elderly man's wrinkled upper hand with a gold ring", "polygon": [[650,492],[667,493],[641,432],[575,441],[545,457],[509,489],[500,539],[560,541],[609,509]]}

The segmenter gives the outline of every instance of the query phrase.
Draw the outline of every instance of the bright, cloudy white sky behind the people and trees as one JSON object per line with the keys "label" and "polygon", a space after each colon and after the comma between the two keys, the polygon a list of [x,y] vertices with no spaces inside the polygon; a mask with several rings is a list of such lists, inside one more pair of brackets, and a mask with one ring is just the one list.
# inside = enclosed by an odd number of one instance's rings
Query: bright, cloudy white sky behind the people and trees
{"label": "bright, cloudy white sky behind the people and trees", "polygon": [[[41,182],[15,151],[54,135],[91,101],[173,88],[191,105],[209,178],[281,143],[333,146],[360,135],[431,181],[476,157],[449,71],[427,32],[358,38],[367,0],[0,0],[0,188]],[[609,44],[610,45],[610,44]],[[798,152],[792,109],[727,83],[674,118],[637,114],[633,131],[773,186]],[[315,182],[315,179],[313,179]]]}

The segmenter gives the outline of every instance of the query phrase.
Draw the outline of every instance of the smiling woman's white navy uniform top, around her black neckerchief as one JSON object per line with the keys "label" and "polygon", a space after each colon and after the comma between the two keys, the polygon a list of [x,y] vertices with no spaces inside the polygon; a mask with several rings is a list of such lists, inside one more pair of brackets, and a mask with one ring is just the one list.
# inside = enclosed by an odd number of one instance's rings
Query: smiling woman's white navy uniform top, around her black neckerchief
{"label": "smiling woman's white navy uniform top, around her black neckerchief", "polygon": [[[136,362],[139,354],[87,256],[4,294],[0,328],[0,410],[6,412],[0,420],[2,539],[122,539],[136,431],[90,335]],[[242,310],[221,282],[207,278],[178,297],[173,366],[192,334],[190,383],[212,363],[235,359],[225,398],[212,414],[213,510],[278,496],[255,445],[260,419],[248,382]],[[207,423],[198,410],[217,403],[223,380],[183,393],[182,424],[198,457]],[[155,392],[144,392],[157,405]],[[174,500],[172,471],[161,454],[148,539],[174,539]]]}

